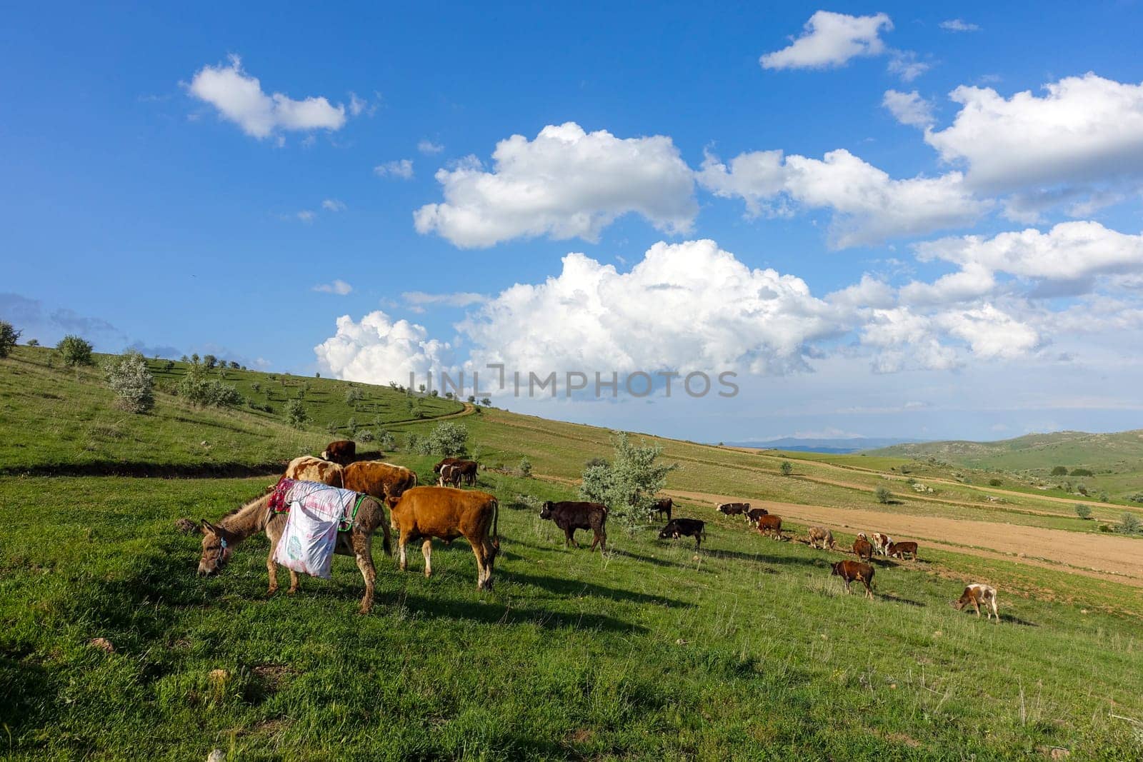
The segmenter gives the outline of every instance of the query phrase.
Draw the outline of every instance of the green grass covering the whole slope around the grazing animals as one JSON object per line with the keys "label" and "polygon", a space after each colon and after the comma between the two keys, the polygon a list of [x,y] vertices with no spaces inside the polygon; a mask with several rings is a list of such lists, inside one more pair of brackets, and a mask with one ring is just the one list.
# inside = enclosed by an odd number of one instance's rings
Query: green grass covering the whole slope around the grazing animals
{"label": "green grass covering the whole slope around the grazing animals", "polygon": [[[255,382],[265,383],[251,371]],[[345,404],[342,382],[328,384],[328,420],[347,417],[333,411]],[[385,423],[398,439],[433,425],[400,418],[405,395],[362,388],[378,407],[399,398]],[[709,522],[700,553],[617,523],[609,553],[565,550],[536,506],[573,487],[485,471],[480,488],[501,502],[494,592],[475,589],[463,540],[435,545],[432,579],[416,550],[401,573],[378,544],[377,605],[360,616],[350,559],[335,560],[333,580],[267,599],[264,537],[201,579],[199,538],[174,527],[215,519],[273,479],[202,478],[214,475],[202,464],[257,470],[320,449],[327,419],[296,431],[166,395],[129,416],[95,371],[25,356],[0,361],[0,391],[8,759],[201,760],[214,748],[232,760],[1143,756],[1138,725],[1120,719],[1143,720],[1138,587],[927,550],[918,562],[880,561],[870,602],[829,575],[852,556],[762,538],[686,500],[677,514]],[[459,409],[433,402],[440,415]],[[526,455],[537,474],[567,480],[610,452],[606,430],[499,410],[456,420],[494,467]],[[101,427],[119,434],[94,439]],[[681,465],[672,489],[873,508],[872,488],[887,483],[902,496],[887,511],[1084,530],[1063,526],[1069,506],[1053,514],[1033,495],[977,505],[975,487],[935,481],[951,475],[943,470],[917,478],[964,505],[906,496],[913,474],[889,468],[908,462],[801,457],[782,476],[793,454],[656,441]],[[431,476],[434,458],[392,458]],[[67,475],[104,462],[193,478]],[[968,579],[998,584],[1000,625],[949,608]]]}

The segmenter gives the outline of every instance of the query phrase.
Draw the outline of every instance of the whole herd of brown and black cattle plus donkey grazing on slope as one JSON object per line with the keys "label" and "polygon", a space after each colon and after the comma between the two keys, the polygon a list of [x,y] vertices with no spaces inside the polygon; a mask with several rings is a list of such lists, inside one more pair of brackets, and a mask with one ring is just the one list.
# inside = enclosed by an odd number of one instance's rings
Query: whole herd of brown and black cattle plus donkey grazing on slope
{"label": "whole herd of brown and black cattle plus donkey grazing on slope", "polygon": [[[361,492],[390,508],[390,526],[381,523],[368,530],[363,538],[352,538],[352,548],[346,554],[357,555],[358,567],[366,580],[366,599],[362,600],[362,611],[368,610],[373,602],[373,560],[368,556],[368,535],[376,529],[384,532],[384,548],[390,553],[389,529],[398,531],[398,552],[400,568],[407,569],[406,545],[421,539],[425,560],[425,576],[432,575],[431,548],[432,538],[445,543],[464,537],[472,546],[477,558],[477,587],[490,589],[493,586],[493,567],[499,551],[497,536],[498,504],[496,497],[479,490],[459,489],[463,484],[474,486],[478,464],[462,458],[445,458],[433,472],[438,475],[437,487],[418,487],[417,475],[409,468],[376,460],[355,460],[355,444],[352,441],[330,442],[320,458],[301,456],[290,462],[283,474],[285,479],[314,481],[333,487]],[[271,540],[270,556],[266,567],[270,572],[270,592],[277,589],[274,570],[274,546],[280,535],[280,527],[272,527],[274,516],[265,510],[263,503],[267,497],[257,498],[241,508],[223,516],[217,524],[206,520],[203,526],[202,559],[199,563],[200,573],[213,573],[221,569],[229,556],[229,548],[255,531],[264,530]],[[695,551],[698,551],[705,539],[705,522],[700,519],[673,516],[674,504],[670,498],[655,502],[653,512],[666,518],[666,526],[660,531],[660,539],[679,539],[693,537]],[[770,514],[766,508],[751,507],[749,503],[724,503],[718,511],[727,516],[743,516],[762,535],[776,540],[784,539],[782,516]],[[539,518],[551,520],[563,530],[565,546],[580,544],[575,539],[576,530],[593,532],[591,550],[598,546],[607,550],[607,515],[608,508],[601,503],[565,500],[543,504]],[[357,529],[357,528],[355,528]],[[833,532],[824,527],[810,527],[809,546],[821,550],[837,550]],[[359,542],[361,540],[361,542]],[[360,545],[360,547],[358,547]],[[355,548],[355,551],[354,551]],[[352,552],[351,552],[352,551]],[[343,552],[343,551],[338,551]],[[902,561],[912,556],[917,559],[917,543],[894,542],[884,532],[858,532],[853,544],[857,561],[838,561],[831,566],[831,575],[841,577],[846,592],[849,585],[860,581],[865,587],[866,597],[873,597],[873,555],[897,558]],[[297,576],[290,572],[290,592],[297,589]],[[368,604],[367,604],[368,602]],[[976,583],[965,587],[960,599],[952,602],[958,611],[972,604],[976,616],[981,616],[981,605],[985,607],[989,619],[993,616],[1000,620],[997,610],[996,588]]]}

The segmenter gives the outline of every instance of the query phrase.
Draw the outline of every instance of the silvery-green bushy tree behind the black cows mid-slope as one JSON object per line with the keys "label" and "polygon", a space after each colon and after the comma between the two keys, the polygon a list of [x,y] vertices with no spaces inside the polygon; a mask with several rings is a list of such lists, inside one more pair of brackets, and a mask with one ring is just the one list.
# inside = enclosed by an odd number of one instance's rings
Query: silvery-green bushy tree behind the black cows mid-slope
{"label": "silvery-green bushy tree behind the black cows mid-slope", "polygon": [[612,442],[615,447],[612,462],[585,468],[580,492],[589,500],[602,503],[610,515],[634,529],[650,521],[655,495],[666,483],[666,475],[679,466],[656,463],[662,447],[632,444],[624,432],[617,433]]}

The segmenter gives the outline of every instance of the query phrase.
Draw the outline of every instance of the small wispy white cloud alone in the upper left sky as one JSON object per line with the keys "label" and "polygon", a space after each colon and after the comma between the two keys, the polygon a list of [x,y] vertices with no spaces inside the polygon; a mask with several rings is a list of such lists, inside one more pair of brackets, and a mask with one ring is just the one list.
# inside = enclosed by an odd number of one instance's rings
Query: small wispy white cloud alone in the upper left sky
{"label": "small wispy white cloud alone in the upper left sky", "polygon": [[195,98],[209,103],[247,135],[258,139],[283,130],[338,130],[345,126],[345,106],[321,96],[295,101],[281,93],[266,95],[262,83],[242,70],[242,61],[203,66],[187,86]]}

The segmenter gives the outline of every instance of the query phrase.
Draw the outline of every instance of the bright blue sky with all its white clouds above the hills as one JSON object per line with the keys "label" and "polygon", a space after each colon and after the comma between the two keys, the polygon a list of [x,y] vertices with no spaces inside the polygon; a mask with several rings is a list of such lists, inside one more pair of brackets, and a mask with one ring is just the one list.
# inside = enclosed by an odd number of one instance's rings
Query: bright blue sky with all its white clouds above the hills
{"label": "bright blue sky with all its white clouds above the hills", "polygon": [[1140,29],[1128,2],[9,9],[0,316],[379,383],[735,370],[729,400],[497,400],[701,440],[1141,427]]}

